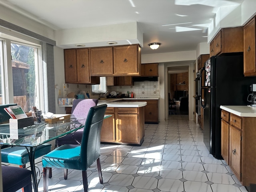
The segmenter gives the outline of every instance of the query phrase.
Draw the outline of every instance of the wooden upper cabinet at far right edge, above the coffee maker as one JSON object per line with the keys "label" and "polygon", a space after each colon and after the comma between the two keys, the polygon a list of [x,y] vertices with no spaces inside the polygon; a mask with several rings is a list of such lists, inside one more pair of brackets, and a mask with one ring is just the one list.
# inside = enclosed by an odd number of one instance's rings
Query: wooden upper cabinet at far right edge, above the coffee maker
{"label": "wooden upper cabinet at far right edge, above the coffee maker", "polygon": [[244,76],[256,76],[255,18],[244,26]]}

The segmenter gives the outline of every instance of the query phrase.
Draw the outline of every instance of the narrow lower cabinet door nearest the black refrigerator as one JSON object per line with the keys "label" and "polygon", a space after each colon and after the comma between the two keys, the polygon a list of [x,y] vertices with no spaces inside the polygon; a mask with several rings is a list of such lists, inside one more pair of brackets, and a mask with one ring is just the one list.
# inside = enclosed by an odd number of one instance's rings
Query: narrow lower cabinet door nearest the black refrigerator
{"label": "narrow lower cabinet door nearest the black refrigerator", "polygon": [[229,124],[221,120],[221,155],[224,160],[229,164]]}

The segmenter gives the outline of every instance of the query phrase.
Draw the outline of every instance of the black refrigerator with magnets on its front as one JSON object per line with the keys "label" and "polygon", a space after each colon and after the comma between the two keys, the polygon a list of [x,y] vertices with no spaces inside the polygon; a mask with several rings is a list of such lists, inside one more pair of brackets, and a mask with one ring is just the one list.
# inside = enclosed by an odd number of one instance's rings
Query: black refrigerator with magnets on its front
{"label": "black refrigerator with magnets on its front", "polygon": [[[205,71],[204,71],[205,70]],[[212,56],[202,69],[201,104],[204,108],[204,144],[217,159],[221,156],[221,105],[248,105],[250,84],[256,77],[244,77],[243,56]]]}

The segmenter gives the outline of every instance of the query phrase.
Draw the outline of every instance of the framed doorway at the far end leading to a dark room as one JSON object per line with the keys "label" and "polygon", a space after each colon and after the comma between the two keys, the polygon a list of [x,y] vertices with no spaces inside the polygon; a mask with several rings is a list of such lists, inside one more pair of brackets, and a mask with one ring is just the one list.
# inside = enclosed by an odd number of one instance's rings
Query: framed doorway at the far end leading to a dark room
{"label": "framed doorway at the far end leading to a dark room", "polygon": [[[169,62],[165,64],[165,119],[179,118],[193,120],[194,113],[194,63],[195,60]],[[181,76],[186,73],[186,80]],[[172,75],[175,74],[175,75]],[[178,75],[177,75],[178,74]],[[171,84],[171,78],[175,77],[176,81]],[[179,87],[179,88],[178,88]],[[176,91],[176,92],[175,92]],[[180,92],[181,91],[181,92]],[[170,96],[169,96],[170,93]],[[181,95],[182,94],[182,95]],[[185,98],[180,102],[181,98]],[[169,99],[172,101],[169,115]],[[175,105],[174,105],[175,102]],[[185,108],[184,108],[185,104]],[[180,113],[180,105],[184,112]],[[175,107],[174,107],[175,106]],[[176,112],[174,111],[176,108]],[[173,112],[173,113],[172,113]],[[175,116],[175,117],[174,117]]]}

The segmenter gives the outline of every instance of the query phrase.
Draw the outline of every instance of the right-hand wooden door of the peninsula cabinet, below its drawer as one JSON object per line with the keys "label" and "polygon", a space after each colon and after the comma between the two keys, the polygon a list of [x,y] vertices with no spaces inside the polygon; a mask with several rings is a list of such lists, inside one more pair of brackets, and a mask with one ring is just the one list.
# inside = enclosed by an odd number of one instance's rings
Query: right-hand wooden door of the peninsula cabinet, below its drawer
{"label": "right-hand wooden door of the peninsula cabinet, below its drawer", "polygon": [[118,142],[138,144],[138,114],[117,114]]}

